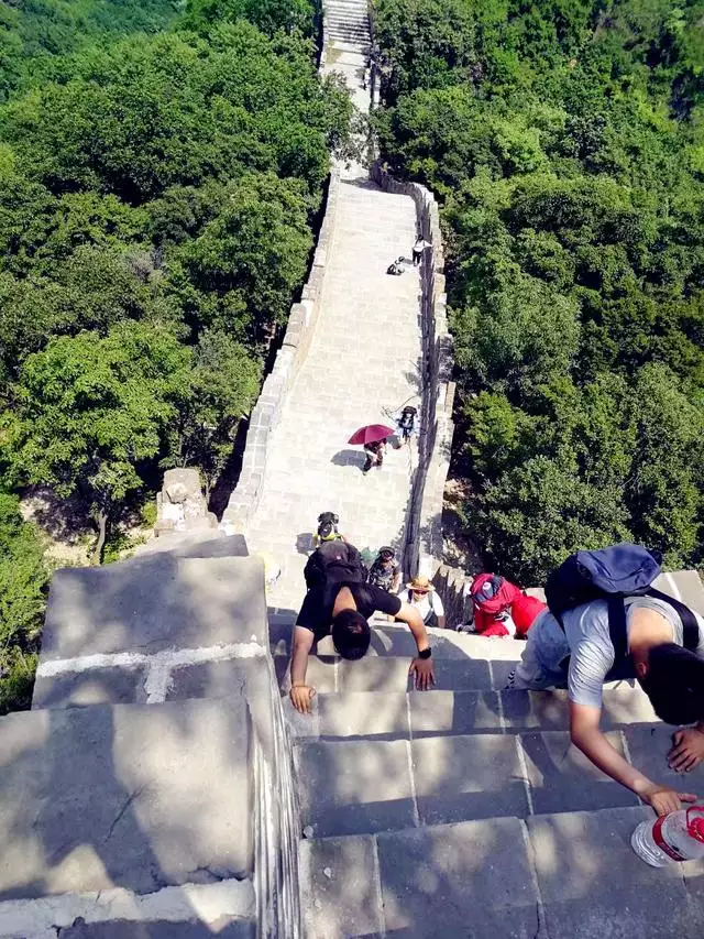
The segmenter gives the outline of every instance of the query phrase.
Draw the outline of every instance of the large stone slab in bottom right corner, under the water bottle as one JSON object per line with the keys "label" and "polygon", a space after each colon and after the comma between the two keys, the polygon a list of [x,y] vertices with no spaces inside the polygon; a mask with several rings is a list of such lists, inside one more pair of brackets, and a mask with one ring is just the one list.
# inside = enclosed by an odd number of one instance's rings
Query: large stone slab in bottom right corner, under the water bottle
{"label": "large stone slab in bottom right corner, under the water bottle", "polygon": [[644,807],[528,820],[550,939],[701,939],[680,866],[650,867],[630,848],[645,818]]}

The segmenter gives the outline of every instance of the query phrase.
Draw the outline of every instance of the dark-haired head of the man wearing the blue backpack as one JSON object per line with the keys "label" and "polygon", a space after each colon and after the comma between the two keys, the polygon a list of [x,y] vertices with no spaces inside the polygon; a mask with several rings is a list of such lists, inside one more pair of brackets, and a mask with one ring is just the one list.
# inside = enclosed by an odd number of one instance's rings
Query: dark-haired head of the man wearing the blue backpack
{"label": "dark-haired head of the man wearing the blue backpack", "polygon": [[661,643],[636,672],[660,720],[669,724],[704,720],[704,662],[693,652]]}

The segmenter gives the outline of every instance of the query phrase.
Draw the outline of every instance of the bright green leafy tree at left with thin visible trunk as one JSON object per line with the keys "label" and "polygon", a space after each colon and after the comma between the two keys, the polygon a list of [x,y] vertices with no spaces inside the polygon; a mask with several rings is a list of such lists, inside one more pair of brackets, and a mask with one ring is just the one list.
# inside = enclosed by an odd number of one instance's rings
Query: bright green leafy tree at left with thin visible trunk
{"label": "bright green leafy tree at left with thin visible trunk", "polygon": [[10,428],[15,477],[81,492],[100,560],[117,504],[139,488],[188,386],[188,352],[165,329],[120,323],[107,336],[52,339],[25,360]]}

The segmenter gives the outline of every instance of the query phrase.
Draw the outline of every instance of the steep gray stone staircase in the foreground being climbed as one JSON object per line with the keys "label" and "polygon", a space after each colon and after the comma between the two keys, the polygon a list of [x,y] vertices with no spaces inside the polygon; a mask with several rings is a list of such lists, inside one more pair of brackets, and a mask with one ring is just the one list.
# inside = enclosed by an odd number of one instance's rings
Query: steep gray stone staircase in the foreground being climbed
{"label": "steep gray stone staircase in the foreground being climbed", "polygon": [[[658,586],[704,611],[695,574]],[[311,717],[287,706],[308,939],[704,935],[704,865],[632,853],[651,810],[571,745],[565,692],[503,690],[521,643],[431,642],[436,690],[410,690],[413,638],[380,622],[362,662],[320,644]],[[283,626],[272,647],[286,687]],[[704,797],[704,767],[667,767],[672,728],[638,687],[605,690],[603,727],[651,778]]]}

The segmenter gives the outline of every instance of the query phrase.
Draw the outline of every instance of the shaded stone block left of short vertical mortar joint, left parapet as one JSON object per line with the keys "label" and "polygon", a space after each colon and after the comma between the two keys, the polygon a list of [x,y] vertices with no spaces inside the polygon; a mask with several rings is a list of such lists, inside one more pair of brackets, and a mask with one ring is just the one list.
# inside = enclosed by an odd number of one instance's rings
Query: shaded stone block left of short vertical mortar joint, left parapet
{"label": "shaded stone block left of short vertical mortar joint, left parapet", "polygon": [[32,707],[77,708],[88,705],[143,705],[145,669],[91,668],[88,672],[69,672],[47,678],[38,676],[34,683]]}

